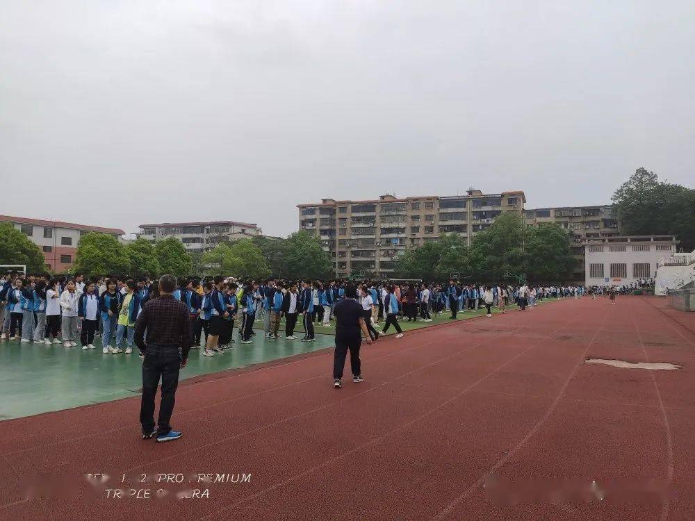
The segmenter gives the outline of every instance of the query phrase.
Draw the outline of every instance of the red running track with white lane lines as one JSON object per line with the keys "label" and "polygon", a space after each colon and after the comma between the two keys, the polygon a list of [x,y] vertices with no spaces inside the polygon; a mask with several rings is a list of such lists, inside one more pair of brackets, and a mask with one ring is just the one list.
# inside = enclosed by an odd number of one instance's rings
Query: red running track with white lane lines
{"label": "red running track with white lane lines", "polygon": [[[138,399],[1,422],[0,518],[694,519],[695,334],[662,303],[584,297],[380,340],[363,349],[366,381],[342,390],[332,388],[330,349],[187,381],[173,421],[185,437],[167,444],[140,440]],[[210,499],[161,502],[25,500],[18,485],[107,470],[252,477],[210,485]],[[501,506],[484,496],[489,473],[655,479],[673,493],[662,504]]]}

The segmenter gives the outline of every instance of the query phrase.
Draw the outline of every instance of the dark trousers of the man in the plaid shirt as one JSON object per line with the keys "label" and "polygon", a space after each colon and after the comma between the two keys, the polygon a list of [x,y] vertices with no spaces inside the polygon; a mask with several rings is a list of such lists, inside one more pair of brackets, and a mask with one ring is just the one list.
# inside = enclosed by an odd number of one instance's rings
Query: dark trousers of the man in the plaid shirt
{"label": "dark trousers of the man in the plaid shirt", "polygon": [[143,433],[150,433],[154,429],[154,397],[157,394],[160,378],[162,388],[157,435],[163,436],[172,430],[169,422],[174,412],[180,369],[180,347],[173,345],[147,346],[145,360],[142,361],[142,402],[140,403],[140,424]]}

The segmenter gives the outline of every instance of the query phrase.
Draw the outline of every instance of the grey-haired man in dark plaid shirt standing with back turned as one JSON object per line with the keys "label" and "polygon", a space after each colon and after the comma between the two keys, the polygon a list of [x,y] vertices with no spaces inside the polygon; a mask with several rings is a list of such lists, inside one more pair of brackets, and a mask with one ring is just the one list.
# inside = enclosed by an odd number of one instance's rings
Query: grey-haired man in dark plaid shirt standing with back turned
{"label": "grey-haired man in dark plaid shirt standing with back turned", "polygon": [[[169,420],[174,411],[179,370],[188,363],[191,336],[188,308],[172,296],[176,283],[173,275],[163,275],[159,279],[159,298],[145,304],[135,326],[135,343],[145,355],[145,360],[142,361],[140,405],[143,440],[152,438],[155,434],[158,442],[181,438],[180,431],[172,431]],[[155,429],[154,397],[160,377],[162,397],[159,405],[159,428]]]}

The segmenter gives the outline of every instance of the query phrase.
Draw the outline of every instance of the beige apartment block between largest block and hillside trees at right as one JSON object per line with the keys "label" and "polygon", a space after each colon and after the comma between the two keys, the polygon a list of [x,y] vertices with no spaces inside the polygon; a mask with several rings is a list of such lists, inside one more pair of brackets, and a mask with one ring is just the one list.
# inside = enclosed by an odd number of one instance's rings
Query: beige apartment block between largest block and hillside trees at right
{"label": "beige apartment block between largest block and hillside trees at right", "polygon": [[571,233],[572,252],[577,260],[571,281],[584,281],[584,246],[589,240],[619,235],[619,223],[610,205],[560,206],[524,210],[526,224],[542,226],[553,222]]}

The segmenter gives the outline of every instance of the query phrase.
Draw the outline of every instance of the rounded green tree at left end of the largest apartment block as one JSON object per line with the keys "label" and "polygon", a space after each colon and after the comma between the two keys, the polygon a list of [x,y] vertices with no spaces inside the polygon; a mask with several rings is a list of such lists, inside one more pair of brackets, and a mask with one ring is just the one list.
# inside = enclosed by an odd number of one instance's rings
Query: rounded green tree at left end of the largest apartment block
{"label": "rounded green tree at left end of the largest apartment block", "polygon": [[323,279],[334,273],[331,256],[324,251],[316,235],[306,230],[297,231],[287,238],[286,246],[285,276],[291,279]]}

